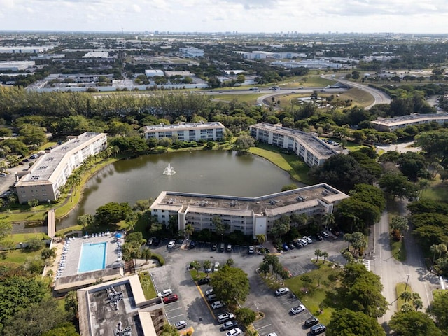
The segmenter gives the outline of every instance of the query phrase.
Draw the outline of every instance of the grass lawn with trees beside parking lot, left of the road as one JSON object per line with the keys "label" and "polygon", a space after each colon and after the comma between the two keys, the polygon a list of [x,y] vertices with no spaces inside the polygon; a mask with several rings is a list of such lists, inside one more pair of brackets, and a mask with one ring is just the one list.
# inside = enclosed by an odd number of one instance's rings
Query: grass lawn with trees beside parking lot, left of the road
{"label": "grass lawn with trees beside parking lot, left of the road", "polygon": [[318,317],[321,323],[327,324],[332,312],[339,307],[333,291],[339,287],[337,276],[342,271],[328,262],[325,264],[318,262],[317,265],[319,264],[318,269],[306,274],[312,283],[302,281],[304,275],[302,274],[286,280],[285,286],[288,286],[300,298],[311,314]]}

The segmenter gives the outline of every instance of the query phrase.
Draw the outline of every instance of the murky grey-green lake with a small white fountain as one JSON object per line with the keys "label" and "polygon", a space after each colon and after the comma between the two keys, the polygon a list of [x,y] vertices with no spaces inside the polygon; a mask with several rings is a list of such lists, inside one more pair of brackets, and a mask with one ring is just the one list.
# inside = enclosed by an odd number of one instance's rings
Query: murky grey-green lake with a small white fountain
{"label": "murky grey-green lake with a small white fountain", "polygon": [[[170,164],[176,174],[163,174]],[[290,183],[288,173],[256,155],[232,151],[192,151],[143,155],[120,160],[97,173],[84,190],[80,204],[57,224],[76,225],[82,214],[94,214],[108,202],[128,202],[157,197],[163,190],[185,193],[255,197],[278,193]]]}

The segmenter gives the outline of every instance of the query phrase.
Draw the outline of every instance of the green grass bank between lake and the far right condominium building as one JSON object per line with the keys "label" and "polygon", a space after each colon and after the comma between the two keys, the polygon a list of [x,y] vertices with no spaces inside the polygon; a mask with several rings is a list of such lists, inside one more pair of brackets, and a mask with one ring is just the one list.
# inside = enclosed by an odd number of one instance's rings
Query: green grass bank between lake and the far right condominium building
{"label": "green grass bank between lake and the far right condominium building", "polygon": [[308,177],[309,167],[295,154],[281,153],[281,148],[261,143],[257,144],[256,147],[251,147],[251,149],[249,149],[249,153],[269,160],[277,167],[288,172],[296,181],[305,184],[310,183],[310,179]]}

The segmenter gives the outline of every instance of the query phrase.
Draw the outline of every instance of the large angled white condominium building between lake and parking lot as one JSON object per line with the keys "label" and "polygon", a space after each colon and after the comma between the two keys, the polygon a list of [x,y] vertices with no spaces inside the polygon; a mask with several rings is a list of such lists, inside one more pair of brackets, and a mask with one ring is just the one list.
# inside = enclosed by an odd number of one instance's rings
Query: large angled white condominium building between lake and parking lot
{"label": "large angled white condominium building between lake and parking lot", "polygon": [[261,197],[235,197],[162,191],[151,205],[151,215],[162,224],[176,216],[179,230],[190,224],[195,232],[216,230],[214,217],[228,224],[226,232],[240,230],[244,235],[267,235],[282,215],[332,214],[335,206],[349,195],[326,183]]}

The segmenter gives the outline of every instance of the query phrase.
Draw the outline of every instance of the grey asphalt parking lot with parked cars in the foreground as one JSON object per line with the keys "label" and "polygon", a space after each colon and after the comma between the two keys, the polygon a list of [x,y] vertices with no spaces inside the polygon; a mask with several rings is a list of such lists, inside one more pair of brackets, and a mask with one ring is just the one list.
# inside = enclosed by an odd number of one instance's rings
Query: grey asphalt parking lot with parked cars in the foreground
{"label": "grey asphalt parking lot with parked cars in the foreground", "polygon": [[[221,324],[216,321],[216,316],[226,311],[225,307],[211,309],[205,297],[205,291],[210,288],[208,285],[197,286],[191,279],[188,271],[190,262],[197,260],[201,263],[204,260],[225,265],[225,262],[232,258],[234,266],[239,267],[248,274],[251,285],[251,293],[244,304],[244,307],[253,311],[262,312],[265,317],[253,323],[261,336],[276,332],[278,336],[309,335],[309,328],[304,327],[304,321],[311,317],[308,310],[293,315],[290,313],[292,307],[300,304],[300,300],[292,293],[281,297],[276,297],[273,291],[265,286],[260,276],[255,272],[262,262],[262,255],[248,255],[248,246],[232,246],[232,251],[211,251],[211,242],[197,241],[195,248],[186,249],[185,242],[176,241],[174,248],[167,248],[170,239],[163,239],[159,246],[151,246],[151,249],[160,253],[166,260],[166,265],[151,270],[151,276],[158,291],[172,288],[173,293],[179,295],[179,300],[166,305],[166,315],[169,323],[186,320],[188,328],[194,328],[195,335],[221,335],[225,332],[220,330]],[[182,248],[181,248],[182,246]],[[226,245],[227,247],[227,245]],[[328,252],[328,260],[344,262],[340,251],[346,247],[346,242],[342,239],[330,239],[314,241],[304,248],[279,253],[279,260],[283,266],[287,267],[293,276],[304,274],[314,269],[314,251],[321,249]],[[272,253],[274,248],[271,248]],[[303,304],[307,305],[306,302]],[[324,335],[324,334],[323,334]]]}

